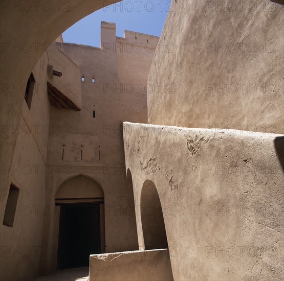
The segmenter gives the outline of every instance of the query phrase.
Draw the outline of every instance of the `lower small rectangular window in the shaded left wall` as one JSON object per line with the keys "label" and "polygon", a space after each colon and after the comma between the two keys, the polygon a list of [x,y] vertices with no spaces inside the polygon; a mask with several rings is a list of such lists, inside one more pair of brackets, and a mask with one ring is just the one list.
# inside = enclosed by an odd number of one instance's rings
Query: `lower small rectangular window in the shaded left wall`
{"label": "lower small rectangular window in the shaded left wall", "polygon": [[6,226],[13,227],[18,196],[19,189],[16,188],[16,186],[14,186],[13,184],[11,184],[3,219],[3,224]]}

